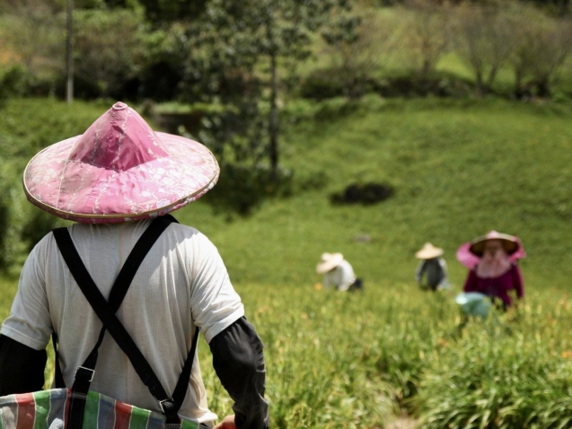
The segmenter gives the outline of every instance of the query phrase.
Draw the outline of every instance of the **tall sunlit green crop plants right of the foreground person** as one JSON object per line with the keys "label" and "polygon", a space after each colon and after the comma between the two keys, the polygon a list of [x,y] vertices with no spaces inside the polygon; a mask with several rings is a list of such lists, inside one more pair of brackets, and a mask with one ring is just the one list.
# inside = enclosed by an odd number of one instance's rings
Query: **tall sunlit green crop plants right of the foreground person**
{"label": "tall sunlit green crop plants right of the foreground person", "polygon": [[[500,427],[557,427],[572,412],[572,341],[562,330],[572,311],[558,290],[533,292],[521,311],[463,331],[454,293],[407,284],[364,294],[238,290],[266,346],[276,427],[381,427],[397,412],[390,400],[431,428],[447,427],[450,414],[451,427],[497,427],[499,416],[513,423]],[[216,412],[230,412],[207,354],[202,362]]]}

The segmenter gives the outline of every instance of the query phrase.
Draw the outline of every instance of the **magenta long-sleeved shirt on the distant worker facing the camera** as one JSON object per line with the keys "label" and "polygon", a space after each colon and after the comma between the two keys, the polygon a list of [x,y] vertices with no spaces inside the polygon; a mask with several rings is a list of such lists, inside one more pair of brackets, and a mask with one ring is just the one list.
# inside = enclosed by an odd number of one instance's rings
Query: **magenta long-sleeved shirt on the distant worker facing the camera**
{"label": "magenta long-sleeved shirt on the distant worker facing the camera", "polygon": [[509,291],[515,290],[518,298],[524,297],[523,276],[517,265],[513,265],[505,274],[498,277],[481,278],[477,276],[475,268],[471,269],[465,281],[465,292],[480,292],[488,296],[495,296],[505,302],[506,307],[510,307],[512,299]]}

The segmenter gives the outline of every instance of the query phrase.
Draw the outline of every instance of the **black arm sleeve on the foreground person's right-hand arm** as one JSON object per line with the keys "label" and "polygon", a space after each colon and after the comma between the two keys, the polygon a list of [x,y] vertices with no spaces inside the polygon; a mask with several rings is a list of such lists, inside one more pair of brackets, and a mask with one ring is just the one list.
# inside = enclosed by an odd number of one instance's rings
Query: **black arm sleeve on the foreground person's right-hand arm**
{"label": "black arm sleeve on the foreground person's right-hand arm", "polygon": [[237,429],[267,429],[266,366],[254,327],[242,317],[216,335],[209,346],[216,375],[233,398]]}

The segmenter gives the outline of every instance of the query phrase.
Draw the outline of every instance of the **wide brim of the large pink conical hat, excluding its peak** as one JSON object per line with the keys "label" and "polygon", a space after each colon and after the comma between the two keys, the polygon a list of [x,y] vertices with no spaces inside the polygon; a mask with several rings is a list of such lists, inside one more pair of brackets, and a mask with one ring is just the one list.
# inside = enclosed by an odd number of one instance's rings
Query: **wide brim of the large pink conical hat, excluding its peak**
{"label": "wide brim of the large pink conical hat, excluding its peak", "polygon": [[26,197],[33,205],[64,219],[119,223],[165,215],[216,185],[219,166],[206,146],[182,136],[154,134],[167,156],[127,171],[68,159],[81,136],[52,144],[26,166]]}

